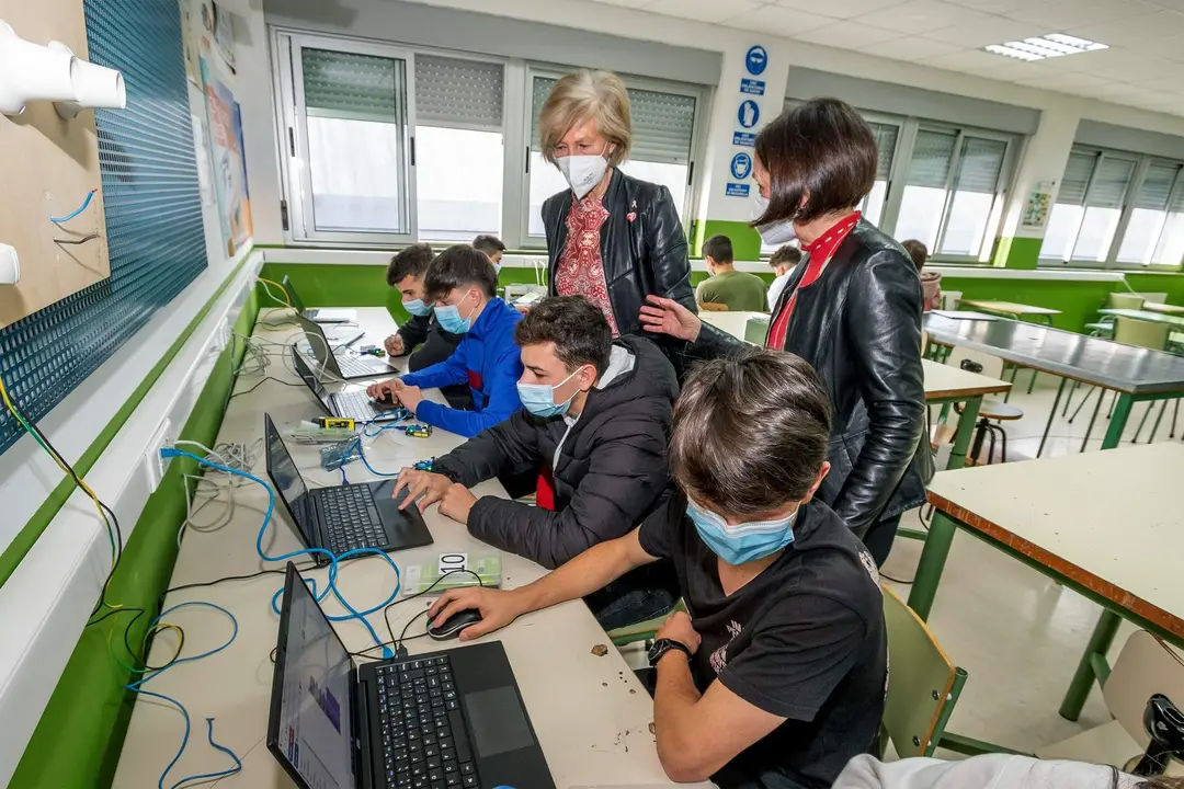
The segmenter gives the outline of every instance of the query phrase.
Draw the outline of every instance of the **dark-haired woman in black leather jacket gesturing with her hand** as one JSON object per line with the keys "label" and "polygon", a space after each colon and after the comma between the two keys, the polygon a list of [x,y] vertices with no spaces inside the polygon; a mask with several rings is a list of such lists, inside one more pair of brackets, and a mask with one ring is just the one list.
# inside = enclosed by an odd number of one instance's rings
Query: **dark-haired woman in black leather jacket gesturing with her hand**
{"label": "dark-haired woman in black leather jacket gesturing with her hand", "polygon": [[[810,362],[835,406],[830,474],[819,497],[863,539],[876,564],[901,515],[925,502],[933,457],[925,435],[921,283],[905,250],[860,216],[876,142],[848,104],[816,98],[757,137],[753,226],[766,244],[798,239],[809,259],[791,274],[766,344]],[[648,331],[718,356],[739,339],[670,299],[649,297]]]}

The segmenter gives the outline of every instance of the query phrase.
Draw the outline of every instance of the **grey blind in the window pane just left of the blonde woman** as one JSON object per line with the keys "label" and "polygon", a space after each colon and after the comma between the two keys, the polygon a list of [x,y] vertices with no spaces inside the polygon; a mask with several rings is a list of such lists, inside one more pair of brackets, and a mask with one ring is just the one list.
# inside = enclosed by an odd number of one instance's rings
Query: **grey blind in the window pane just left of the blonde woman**
{"label": "grey blind in the window pane just left of the blonde woman", "polygon": [[502,129],[506,75],[500,63],[416,56],[416,123]]}

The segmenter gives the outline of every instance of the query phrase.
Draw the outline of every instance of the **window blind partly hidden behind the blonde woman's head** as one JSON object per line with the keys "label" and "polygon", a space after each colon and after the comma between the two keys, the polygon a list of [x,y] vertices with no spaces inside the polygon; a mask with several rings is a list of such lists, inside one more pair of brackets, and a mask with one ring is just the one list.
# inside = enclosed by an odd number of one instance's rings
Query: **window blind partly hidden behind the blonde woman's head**
{"label": "window blind partly hidden behind the blonde woman's head", "polygon": [[[530,149],[541,150],[539,114],[555,84],[549,77],[535,77],[532,86]],[[695,132],[695,97],[652,90],[629,89],[633,144],[629,157],[643,162],[688,164]]]}

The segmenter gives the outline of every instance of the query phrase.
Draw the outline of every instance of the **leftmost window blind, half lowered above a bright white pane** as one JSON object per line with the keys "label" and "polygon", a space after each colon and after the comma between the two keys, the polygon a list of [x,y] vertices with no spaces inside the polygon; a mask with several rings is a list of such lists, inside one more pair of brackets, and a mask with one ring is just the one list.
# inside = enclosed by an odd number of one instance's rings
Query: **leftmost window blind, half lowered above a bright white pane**
{"label": "leftmost window blind, half lowered above a bright white pane", "polygon": [[404,90],[404,62],[354,52],[303,47],[308,115],[394,123]]}

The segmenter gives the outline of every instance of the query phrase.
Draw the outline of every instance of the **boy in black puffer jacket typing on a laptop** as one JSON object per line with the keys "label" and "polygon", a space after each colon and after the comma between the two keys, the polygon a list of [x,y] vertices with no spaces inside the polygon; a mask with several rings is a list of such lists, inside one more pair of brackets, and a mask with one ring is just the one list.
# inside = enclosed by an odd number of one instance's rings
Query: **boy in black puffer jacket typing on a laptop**
{"label": "boy in black puffer jacket typing on a laptop", "polygon": [[[604,313],[583,296],[553,296],[515,329],[526,368],[522,409],[437,458],[406,470],[395,493],[469,526],[496,548],[555,568],[624,536],[667,490],[665,447],[674,368],[644,337],[616,341]],[[469,492],[477,483],[539,474],[538,506]],[[661,615],[677,601],[669,567],[642,568],[587,597],[605,629]]]}

